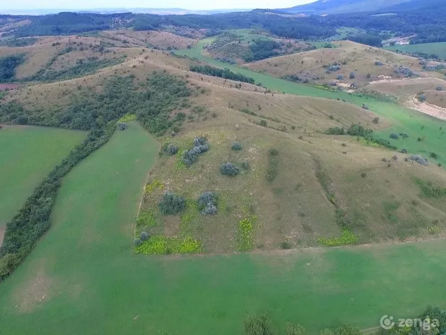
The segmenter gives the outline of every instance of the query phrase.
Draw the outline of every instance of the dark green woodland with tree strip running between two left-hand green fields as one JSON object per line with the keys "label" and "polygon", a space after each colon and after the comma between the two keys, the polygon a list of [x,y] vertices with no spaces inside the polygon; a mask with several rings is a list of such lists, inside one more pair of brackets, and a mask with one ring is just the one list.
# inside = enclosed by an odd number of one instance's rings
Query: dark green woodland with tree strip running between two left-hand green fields
{"label": "dark green woodland with tree strip running between two left-hand green fields", "polygon": [[[52,111],[25,110],[18,103],[0,105],[1,123],[55,126],[89,131],[86,139],[49,172],[14,218],[6,225],[0,248],[0,280],[9,276],[47,232],[62,178],[82,159],[105,144],[116,122],[132,112],[147,131],[161,135],[178,126],[184,117],[170,118],[171,110],[190,96],[185,82],[166,73],[153,73],[146,82],[134,85],[134,77],[112,77],[104,92],[82,90],[70,106]],[[180,113],[178,113],[180,114]]]}

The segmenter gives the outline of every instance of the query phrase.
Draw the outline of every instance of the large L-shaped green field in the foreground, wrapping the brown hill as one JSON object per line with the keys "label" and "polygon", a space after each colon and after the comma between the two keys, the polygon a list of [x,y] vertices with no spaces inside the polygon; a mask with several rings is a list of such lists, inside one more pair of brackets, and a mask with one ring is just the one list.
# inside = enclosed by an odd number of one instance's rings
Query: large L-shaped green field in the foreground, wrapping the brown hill
{"label": "large L-shaped green field in the foreground, wrapping the brown hill", "polygon": [[[0,285],[1,334],[241,334],[268,311],[316,334],[446,304],[445,241],[285,253],[147,257],[132,229],[158,144],[129,124],[79,163],[52,229]],[[98,211],[98,209],[102,209]],[[63,325],[63,330],[61,330]],[[66,330],[65,330],[66,329]]]}

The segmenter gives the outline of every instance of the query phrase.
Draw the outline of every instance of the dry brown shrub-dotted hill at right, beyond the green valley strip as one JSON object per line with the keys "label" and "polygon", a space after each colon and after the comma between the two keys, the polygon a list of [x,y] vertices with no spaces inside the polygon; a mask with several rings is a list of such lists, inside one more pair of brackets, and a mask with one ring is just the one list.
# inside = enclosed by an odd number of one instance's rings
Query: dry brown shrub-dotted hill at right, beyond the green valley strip
{"label": "dry brown shrub-dotted hill at right, beyond the green valley strip", "polygon": [[353,88],[364,87],[369,82],[384,78],[403,79],[410,76],[410,72],[406,73],[407,70],[412,71],[414,76],[442,77],[441,73],[424,71],[415,57],[348,40],[332,44],[333,48],[264,59],[247,66],[252,70],[276,77],[287,77],[298,82],[328,84],[343,89],[350,89],[351,85]]}

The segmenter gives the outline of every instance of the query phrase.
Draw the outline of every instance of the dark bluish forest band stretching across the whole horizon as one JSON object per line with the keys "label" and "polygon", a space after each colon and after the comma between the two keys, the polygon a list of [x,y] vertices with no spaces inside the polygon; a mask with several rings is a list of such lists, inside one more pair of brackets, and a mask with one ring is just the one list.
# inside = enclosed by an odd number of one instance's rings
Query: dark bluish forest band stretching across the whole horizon
{"label": "dark bluish forest band stretching across the whole horizon", "polygon": [[[333,1],[351,2],[353,0]],[[134,13],[109,15],[59,13],[35,17],[0,15],[0,28],[2,24],[4,26],[10,24],[10,22],[24,22],[24,20],[27,22],[27,24],[20,24],[15,29],[6,31],[3,33],[2,38],[70,35],[108,29],[163,30],[166,27],[173,26],[206,29],[207,36],[220,34],[221,31],[226,29],[263,29],[271,34],[285,38],[322,40],[336,36],[337,29],[341,27],[354,27],[361,29],[363,33],[375,36],[376,38],[371,39],[373,41],[371,45],[376,46],[380,45],[379,39],[385,38],[383,36],[385,31],[392,31],[397,36],[416,35],[416,38],[413,38],[411,43],[446,41],[446,16],[444,15],[446,1],[420,1],[413,0],[392,7],[394,8],[392,10],[394,15],[378,15],[386,13],[383,9],[376,10],[374,13],[328,16],[307,15],[306,17],[284,17],[283,15],[274,15],[270,10],[253,10],[252,12],[215,15],[151,15]],[[358,2],[356,1],[355,3]],[[386,3],[392,4],[394,2],[386,1]],[[351,36],[348,38],[351,38]],[[357,41],[359,42],[360,40]]]}

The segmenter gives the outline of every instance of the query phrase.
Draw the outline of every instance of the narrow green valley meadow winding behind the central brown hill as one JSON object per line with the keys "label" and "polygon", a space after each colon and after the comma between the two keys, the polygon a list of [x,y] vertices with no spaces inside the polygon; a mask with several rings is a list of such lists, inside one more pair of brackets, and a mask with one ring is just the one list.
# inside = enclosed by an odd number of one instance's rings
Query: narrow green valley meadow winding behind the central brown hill
{"label": "narrow green valley meadow winding behind the central brown hill", "polygon": [[[390,133],[392,132],[408,133],[410,135],[408,139],[392,141],[395,142],[395,145],[397,145],[397,147],[405,147],[410,153],[418,154],[430,153],[431,151],[436,152],[440,155],[440,158],[438,161],[436,161],[436,163],[442,163],[443,165],[446,165],[446,149],[443,144],[446,139],[445,121],[427,117],[420,112],[402,107],[397,103],[380,101],[376,98],[367,96],[351,95],[344,91],[328,91],[325,89],[319,89],[317,87],[290,82],[288,80],[283,80],[278,77],[272,77],[271,75],[266,75],[264,73],[257,73],[247,68],[241,68],[239,66],[233,66],[221,61],[216,61],[215,59],[203,56],[201,54],[203,45],[210,43],[212,39],[213,38],[206,38],[204,40],[201,40],[192,49],[179,50],[176,53],[187,55],[189,57],[196,57],[197,59],[206,61],[207,63],[214,66],[229,68],[229,70],[232,70],[233,72],[246,75],[247,77],[253,77],[254,80],[256,80],[256,83],[261,83],[263,84],[263,86],[268,87],[269,89],[273,89],[274,91],[278,91],[279,93],[284,92],[287,94],[297,94],[299,96],[344,99],[349,103],[353,103],[359,106],[362,105],[362,103],[365,103],[370,108],[370,110],[382,117],[385,117],[385,119],[392,123],[391,129],[382,131],[383,137],[388,138]],[[410,117],[411,115],[413,117]],[[423,129],[421,129],[422,126],[424,126]],[[443,128],[443,131],[440,131],[440,127]],[[417,142],[417,137],[423,136],[426,136],[425,140],[422,142]]]}

